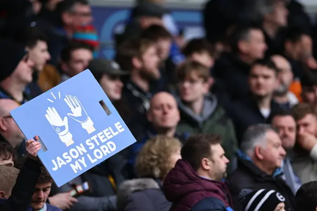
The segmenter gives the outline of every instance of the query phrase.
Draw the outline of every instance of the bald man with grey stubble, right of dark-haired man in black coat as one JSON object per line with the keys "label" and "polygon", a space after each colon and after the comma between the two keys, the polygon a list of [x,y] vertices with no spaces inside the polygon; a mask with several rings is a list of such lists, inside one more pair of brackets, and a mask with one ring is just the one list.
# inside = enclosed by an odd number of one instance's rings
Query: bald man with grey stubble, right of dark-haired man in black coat
{"label": "bald man with grey stubble, right of dark-haired man in black coat", "polygon": [[271,60],[279,70],[278,81],[279,86],[274,91],[274,100],[284,109],[290,109],[298,104],[296,96],[289,92],[289,87],[294,79],[292,66],[289,61],[281,55],[272,55]]}

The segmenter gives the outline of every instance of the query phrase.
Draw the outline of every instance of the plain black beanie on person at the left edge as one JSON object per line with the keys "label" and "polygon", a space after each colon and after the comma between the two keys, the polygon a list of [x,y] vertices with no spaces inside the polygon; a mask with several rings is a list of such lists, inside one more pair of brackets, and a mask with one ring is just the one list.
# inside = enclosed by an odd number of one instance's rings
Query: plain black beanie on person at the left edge
{"label": "plain black beanie on person at the left edge", "polygon": [[25,54],[24,46],[11,40],[0,41],[0,81],[12,74]]}

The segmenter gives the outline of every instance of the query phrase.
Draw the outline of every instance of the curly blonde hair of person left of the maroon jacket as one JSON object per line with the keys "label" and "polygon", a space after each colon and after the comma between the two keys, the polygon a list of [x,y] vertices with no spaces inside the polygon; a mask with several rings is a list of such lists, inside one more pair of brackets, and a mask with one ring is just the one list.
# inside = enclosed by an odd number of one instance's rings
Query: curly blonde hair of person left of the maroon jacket
{"label": "curly blonde hair of person left of the maroon jacket", "polygon": [[171,155],[180,150],[181,146],[178,139],[166,136],[156,136],[148,140],[136,158],[137,175],[163,180],[174,167],[170,163]]}

